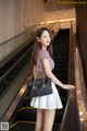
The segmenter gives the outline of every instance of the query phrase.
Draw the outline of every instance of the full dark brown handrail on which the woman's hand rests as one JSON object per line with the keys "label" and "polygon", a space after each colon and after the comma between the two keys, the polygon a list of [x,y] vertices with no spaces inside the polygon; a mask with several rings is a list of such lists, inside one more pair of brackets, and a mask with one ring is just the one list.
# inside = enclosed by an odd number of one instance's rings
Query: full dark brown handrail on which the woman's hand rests
{"label": "full dark brown handrail on which the woman's hand rests", "polygon": [[[77,88],[76,80],[75,80],[74,52],[75,52],[75,41],[74,41],[73,25],[71,22],[69,83],[74,84]],[[82,128],[82,123],[79,120],[76,90],[69,91],[67,104],[65,107],[65,111],[64,111],[64,116],[63,116],[62,123],[60,127],[60,131],[82,131],[82,130],[83,130],[83,128]]]}

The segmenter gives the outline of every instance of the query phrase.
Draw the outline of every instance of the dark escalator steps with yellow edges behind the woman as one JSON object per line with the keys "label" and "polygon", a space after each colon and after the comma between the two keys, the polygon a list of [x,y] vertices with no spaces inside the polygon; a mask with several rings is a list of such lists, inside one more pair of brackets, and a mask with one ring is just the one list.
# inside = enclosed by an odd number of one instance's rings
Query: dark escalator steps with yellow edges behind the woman
{"label": "dark escalator steps with yellow edges behind the woman", "polygon": [[[62,82],[67,83],[69,71],[69,47],[70,47],[70,29],[60,29],[53,41],[53,53],[55,67],[53,70],[54,75]],[[63,109],[57,109],[53,131],[59,131],[62,121],[64,108],[67,100],[67,91],[57,86]],[[34,131],[36,123],[36,109],[30,107],[30,99],[28,98],[29,91],[27,92],[22,105],[16,109],[10,121],[10,131]],[[14,118],[14,119],[13,119]]]}

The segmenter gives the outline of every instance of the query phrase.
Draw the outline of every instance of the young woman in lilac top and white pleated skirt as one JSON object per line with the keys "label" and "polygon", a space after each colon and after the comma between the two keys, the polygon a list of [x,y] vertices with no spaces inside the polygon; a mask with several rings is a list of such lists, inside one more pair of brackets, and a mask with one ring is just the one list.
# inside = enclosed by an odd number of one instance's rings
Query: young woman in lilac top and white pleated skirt
{"label": "young woman in lilac top and white pleated skirt", "polygon": [[[73,90],[74,85],[61,83],[52,73],[54,61],[52,59],[52,39],[48,28],[41,27],[37,31],[35,48],[33,53],[34,72],[37,67],[37,79],[44,75],[51,79],[52,94],[34,97],[30,106],[37,108],[37,121],[35,131],[52,131],[55,109],[63,108],[55,84],[64,90]],[[34,73],[35,75],[35,73]]]}

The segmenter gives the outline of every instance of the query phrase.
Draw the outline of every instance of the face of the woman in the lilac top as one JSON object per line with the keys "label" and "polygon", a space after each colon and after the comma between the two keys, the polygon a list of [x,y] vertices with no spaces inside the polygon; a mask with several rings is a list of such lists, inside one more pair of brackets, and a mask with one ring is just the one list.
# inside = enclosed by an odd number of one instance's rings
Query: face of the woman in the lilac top
{"label": "face of the woman in the lilac top", "polygon": [[51,37],[48,31],[44,31],[44,33],[41,34],[41,37],[38,38],[38,41],[42,45],[42,48],[46,49],[51,41]]}

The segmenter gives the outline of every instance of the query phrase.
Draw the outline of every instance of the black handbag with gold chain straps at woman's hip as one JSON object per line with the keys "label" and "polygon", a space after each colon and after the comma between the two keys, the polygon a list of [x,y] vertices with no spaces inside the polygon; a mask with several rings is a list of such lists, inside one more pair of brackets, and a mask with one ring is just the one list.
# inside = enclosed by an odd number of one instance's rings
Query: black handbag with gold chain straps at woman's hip
{"label": "black handbag with gold chain straps at woman's hip", "polygon": [[52,94],[51,80],[49,78],[33,79],[28,82],[28,87],[32,87],[30,98]]}

